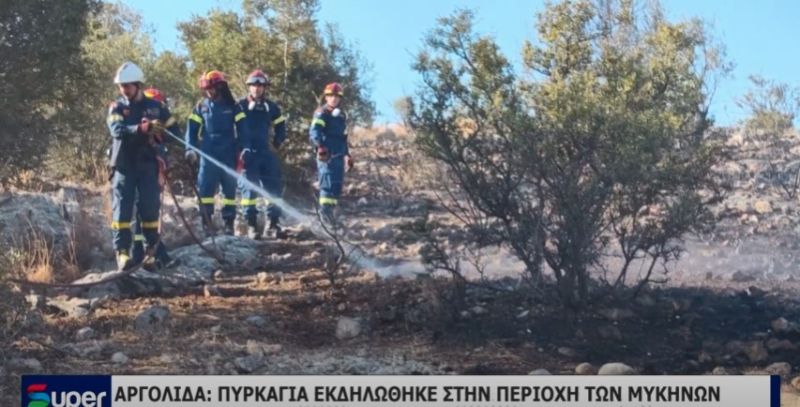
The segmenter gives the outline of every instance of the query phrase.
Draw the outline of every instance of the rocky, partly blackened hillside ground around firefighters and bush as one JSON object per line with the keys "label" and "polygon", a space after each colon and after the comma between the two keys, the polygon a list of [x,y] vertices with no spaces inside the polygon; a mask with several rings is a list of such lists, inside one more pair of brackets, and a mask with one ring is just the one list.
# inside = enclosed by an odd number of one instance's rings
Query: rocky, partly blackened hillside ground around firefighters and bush
{"label": "rocky, partly blackened hillside ground around firefighters and bush", "polygon": [[[167,200],[164,239],[180,267],[91,289],[20,290],[27,310],[0,351],[0,400],[16,403],[18,375],[32,372],[771,373],[793,397],[800,214],[793,199],[759,183],[763,162],[740,156],[725,167],[735,185],[717,208],[720,227],[687,237],[667,283],[635,302],[572,313],[550,293],[520,289],[520,265],[502,249],[486,253],[491,288],[424,273],[422,243],[410,231],[446,214],[418,187],[426,185],[419,157],[389,131],[363,135],[353,150],[359,161],[342,215],[363,256],[361,267],[337,276],[344,284],[331,284],[330,243],[308,219],[289,220],[283,241],[206,240],[225,253],[220,262],[192,244]],[[301,193],[293,197],[313,212]],[[36,225],[55,238],[54,250],[80,253],[79,270],[54,267],[44,277],[101,278],[113,268],[106,222],[96,221],[106,219],[105,201],[103,191],[74,186],[0,197],[0,238],[20,244]],[[197,227],[193,199],[178,203]],[[439,233],[458,233],[446,225]]]}

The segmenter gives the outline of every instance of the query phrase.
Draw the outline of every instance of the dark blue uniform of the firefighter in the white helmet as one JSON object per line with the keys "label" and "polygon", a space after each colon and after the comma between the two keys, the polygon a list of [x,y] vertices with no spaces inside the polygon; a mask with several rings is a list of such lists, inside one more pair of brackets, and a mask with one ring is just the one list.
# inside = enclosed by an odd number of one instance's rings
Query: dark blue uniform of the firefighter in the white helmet
{"label": "dark blue uniform of the firefighter in the white helmet", "polygon": [[127,252],[131,247],[134,205],[138,209],[142,234],[147,245],[152,246],[158,241],[161,190],[158,186],[156,156],[163,147],[138,131],[143,118],[167,122],[170,113],[156,100],[142,97],[138,101],[128,101],[127,98],[120,97],[109,107],[106,120],[113,139],[111,229],[114,247],[118,251]]}

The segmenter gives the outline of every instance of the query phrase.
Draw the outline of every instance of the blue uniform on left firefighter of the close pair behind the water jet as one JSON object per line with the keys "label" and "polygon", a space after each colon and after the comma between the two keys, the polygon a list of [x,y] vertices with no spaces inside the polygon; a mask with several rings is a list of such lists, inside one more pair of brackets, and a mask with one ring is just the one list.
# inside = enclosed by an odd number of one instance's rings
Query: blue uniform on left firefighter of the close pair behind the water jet
{"label": "blue uniform on left firefighter of the close pair behind the water jet", "polygon": [[[237,104],[203,99],[195,106],[186,128],[186,143],[220,161],[228,168],[236,168],[238,150],[237,133],[242,148],[247,148],[249,137],[244,128],[244,112]],[[214,196],[222,185],[222,218],[236,218],[236,178],[205,158],[200,158],[197,177],[201,210],[208,219],[214,213]]]}

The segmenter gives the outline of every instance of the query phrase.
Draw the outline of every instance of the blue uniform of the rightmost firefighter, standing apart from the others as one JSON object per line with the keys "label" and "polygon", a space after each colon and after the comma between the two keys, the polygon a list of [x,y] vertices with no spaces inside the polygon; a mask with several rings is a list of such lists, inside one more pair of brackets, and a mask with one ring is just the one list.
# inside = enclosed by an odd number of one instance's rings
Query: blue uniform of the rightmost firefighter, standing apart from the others
{"label": "blue uniform of the rightmost firefighter, standing apart from the others", "polygon": [[[334,115],[334,113],[338,113]],[[347,146],[347,117],[340,109],[331,109],[327,105],[314,112],[309,135],[315,147],[328,149],[328,161],[317,160],[319,177],[319,203],[323,206],[335,206],[339,203],[344,182],[345,156],[350,154]]]}

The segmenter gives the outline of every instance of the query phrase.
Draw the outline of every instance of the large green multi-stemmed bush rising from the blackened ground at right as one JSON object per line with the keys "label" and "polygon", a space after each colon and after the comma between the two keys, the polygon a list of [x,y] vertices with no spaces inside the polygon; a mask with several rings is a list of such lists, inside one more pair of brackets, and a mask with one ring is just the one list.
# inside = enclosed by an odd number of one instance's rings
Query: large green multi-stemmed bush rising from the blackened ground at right
{"label": "large green multi-stemmed bush rising from the blackened ground at right", "polygon": [[574,307],[646,284],[687,232],[711,225],[721,197],[719,146],[704,136],[707,86],[725,72],[719,51],[697,21],[606,3],[548,6],[540,45],[523,52],[526,78],[473,32],[472,13],[440,19],[406,107],[419,148],[460,193],[451,211],[509,247],[533,281],[546,265]]}

